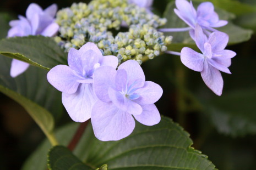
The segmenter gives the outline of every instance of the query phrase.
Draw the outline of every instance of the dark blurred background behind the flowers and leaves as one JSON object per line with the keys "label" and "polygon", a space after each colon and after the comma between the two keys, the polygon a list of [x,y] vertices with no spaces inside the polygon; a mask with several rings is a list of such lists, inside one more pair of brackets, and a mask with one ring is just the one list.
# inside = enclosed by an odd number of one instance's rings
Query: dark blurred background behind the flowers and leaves
{"label": "dark blurred background behind the flowers and leaves", "polygon": [[[56,3],[61,9],[80,1],[1,0],[0,38],[6,37],[8,22],[17,19],[18,15],[25,15],[26,8],[32,2],[43,9]],[[155,0],[153,11],[162,16],[168,2],[171,1]],[[212,2],[219,8],[226,2],[234,4],[234,8],[241,3],[256,9],[254,0]],[[256,10],[238,13],[241,10],[234,8],[232,5],[224,8],[231,13],[237,11],[233,23],[255,31]],[[178,56],[161,55],[142,65],[146,79],[164,89],[164,95],[156,103],[160,113],[181,124],[193,139],[193,147],[208,155],[218,169],[256,169],[255,48],[255,33],[247,42],[227,47],[237,55],[229,68],[232,75],[222,73],[224,90],[221,97],[206,87],[199,72],[183,66]],[[0,101],[0,169],[20,169],[45,136],[15,101],[2,93]],[[70,122],[70,118],[64,112],[57,118],[57,127],[66,122]]]}

